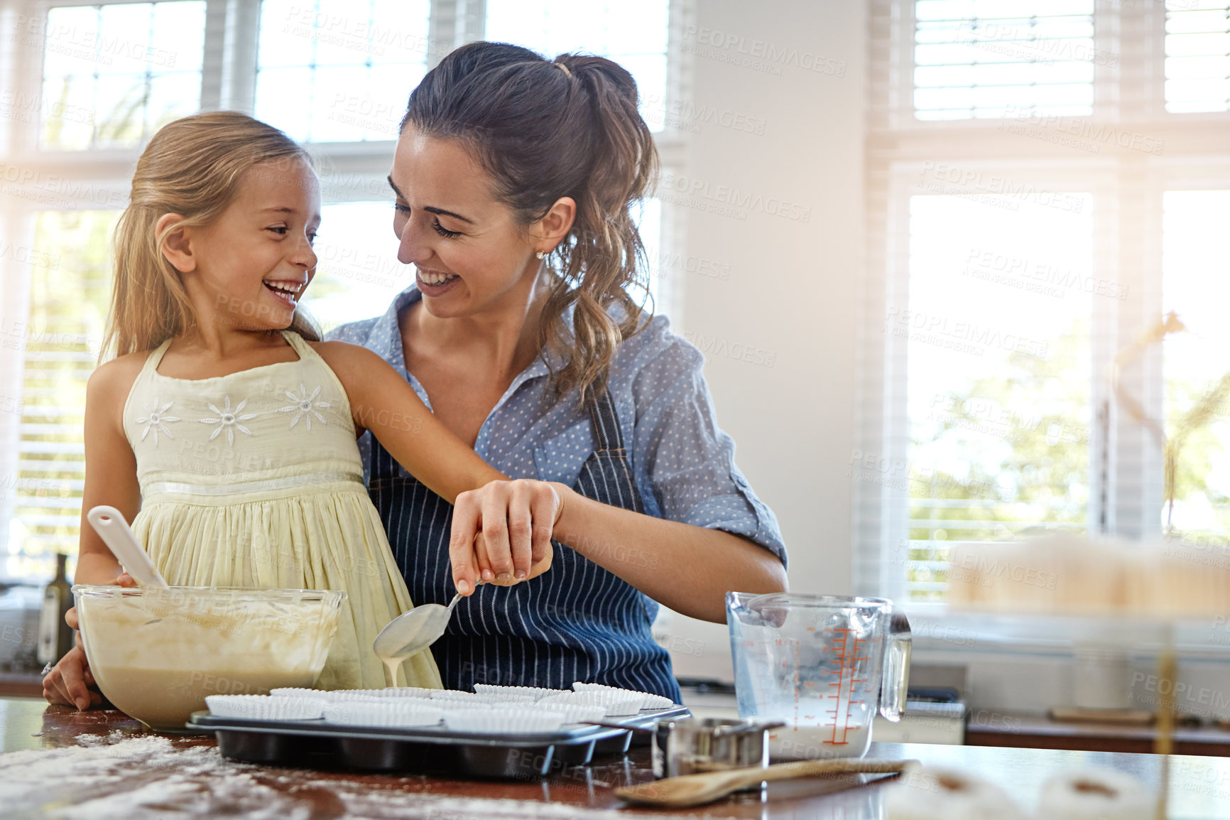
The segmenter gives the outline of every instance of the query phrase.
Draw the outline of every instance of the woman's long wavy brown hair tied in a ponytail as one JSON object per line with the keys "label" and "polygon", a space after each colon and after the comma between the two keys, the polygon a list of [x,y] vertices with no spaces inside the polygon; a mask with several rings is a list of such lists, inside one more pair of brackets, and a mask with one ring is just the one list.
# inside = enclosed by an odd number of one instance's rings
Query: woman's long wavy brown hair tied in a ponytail
{"label": "woman's long wavy brown hair tied in a ponytail", "polygon": [[[554,62],[519,46],[458,48],[410,95],[401,122],[461,140],[494,181],[494,195],[523,224],[572,197],[577,215],[552,251],[557,277],[539,324],[539,346],[567,363],[551,373],[554,398],[582,403],[605,387],[619,342],[643,326],[645,245],[631,208],[652,190],[658,154],[637,111],[632,75],[601,57]],[[563,314],[573,310],[569,335]],[[616,321],[608,309],[617,305]],[[550,366],[550,360],[544,356]]]}

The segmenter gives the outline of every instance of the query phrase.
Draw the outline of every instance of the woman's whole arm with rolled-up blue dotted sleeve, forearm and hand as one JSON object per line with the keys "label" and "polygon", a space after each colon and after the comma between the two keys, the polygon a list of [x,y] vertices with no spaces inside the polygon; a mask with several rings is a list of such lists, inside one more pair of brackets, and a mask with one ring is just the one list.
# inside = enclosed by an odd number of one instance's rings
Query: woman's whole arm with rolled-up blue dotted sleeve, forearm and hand
{"label": "woman's whole arm with rolled-up blue dotted sleeve, forearm and hand", "polygon": [[[633,422],[624,441],[648,515],[551,483],[562,502],[554,538],[672,609],[722,622],[727,591],[786,589],[776,521],[734,467],[734,442],[717,425],[701,352],[672,334],[664,318],[624,344],[636,346],[629,358],[637,371],[616,379],[629,385],[616,390],[630,393],[617,393],[615,401],[629,408]],[[472,500],[458,500],[454,563],[465,560],[470,507],[498,507],[507,492],[492,484]],[[480,541],[493,557],[504,549],[492,534]]]}

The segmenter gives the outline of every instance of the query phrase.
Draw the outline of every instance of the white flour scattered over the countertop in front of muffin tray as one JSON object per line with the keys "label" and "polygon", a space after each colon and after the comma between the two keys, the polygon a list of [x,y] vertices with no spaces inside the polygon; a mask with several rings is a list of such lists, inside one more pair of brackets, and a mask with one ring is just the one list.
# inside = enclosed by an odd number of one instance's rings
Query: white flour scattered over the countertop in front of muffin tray
{"label": "white flour scattered over the countertop in front of muffin tray", "polygon": [[[77,741],[77,746],[0,755],[0,805],[6,819],[565,820],[581,809],[569,803],[424,793],[418,789],[422,778],[413,774],[389,774],[371,783],[344,773],[239,763],[223,758],[212,745],[160,735],[112,731]],[[544,786],[544,797],[552,788],[568,787]],[[322,798],[328,805],[321,805]],[[622,811],[588,806],[584,814],[587,820],[627,819]],[[638,813],[637,820],[653,816]]]}

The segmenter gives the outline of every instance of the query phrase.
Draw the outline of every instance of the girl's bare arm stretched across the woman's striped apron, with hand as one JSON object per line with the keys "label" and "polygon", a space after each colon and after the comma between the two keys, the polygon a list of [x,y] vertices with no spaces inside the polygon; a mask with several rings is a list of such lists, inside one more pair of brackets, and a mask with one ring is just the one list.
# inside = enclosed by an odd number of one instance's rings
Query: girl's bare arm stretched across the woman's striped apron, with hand
{"label": "girl's bare arm stretched across the woman's striped apron, with hand", "polygon": [[[365,347],[347,342],[315,342],[312,347],[346,388],[355,427],[371,431],[389,453],[433,492],[450,502],[469,490],[508,476],[482,460],[423,404],[415,388]],[[522,483],[512,481],[513,485]],[[551,523],[558,517],[554,495],[513,490],[502,510],[483,507],[466,542],[475,554],[475,576],[509,582],[539,575],[551,563]],[[487,560],[472,542],[478,529],[499,539],[503,552]],[[467,576],[469,577],[469,576]],[[470,586],[467,590],[472,590]]]}

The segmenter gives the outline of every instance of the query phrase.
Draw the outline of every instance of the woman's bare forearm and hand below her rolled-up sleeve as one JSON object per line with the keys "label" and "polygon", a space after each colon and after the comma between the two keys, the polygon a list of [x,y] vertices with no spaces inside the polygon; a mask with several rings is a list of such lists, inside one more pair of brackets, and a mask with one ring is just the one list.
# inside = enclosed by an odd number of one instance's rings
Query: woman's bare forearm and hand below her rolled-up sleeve
{"label": "woman's bare forearm and hand below her rolled-up sleeve", "polygon": [[[499,481],[458,499],[450,552],[459,590],[462,584],[474,584],[469,539],[475,521],[483,517],[488,504],[493,508],[515,506],[513,484],[528,485],[523,492],[554,489],[561,510],[551,537],[675,612],[723,623],[727,591],[787,589],[781,560],[740,536],[615,507],[556,481]],[[486,541],[492,555],[507,549],[491,534]]]}

